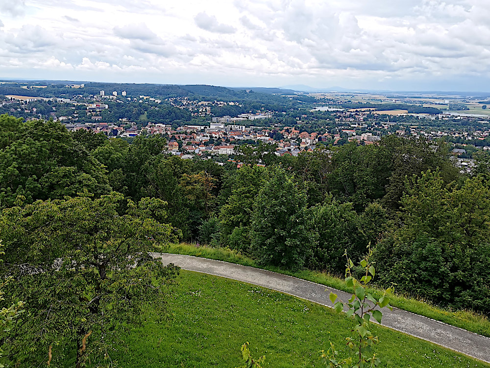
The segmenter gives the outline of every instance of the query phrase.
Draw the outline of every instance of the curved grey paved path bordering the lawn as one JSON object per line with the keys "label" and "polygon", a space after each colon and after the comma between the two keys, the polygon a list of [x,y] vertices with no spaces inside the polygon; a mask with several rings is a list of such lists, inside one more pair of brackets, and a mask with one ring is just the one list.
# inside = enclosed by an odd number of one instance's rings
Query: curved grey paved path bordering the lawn
{"label": "curved grey paved path bordering the lawn", "polygon": [[[234,263],[169,253],[152,253],[163,263],[280,291],[331,307],[330,291],[346,301],[351,294],[310,281]],[[384,310],[382,325],[490,363],[490,339],[401,309]]]}

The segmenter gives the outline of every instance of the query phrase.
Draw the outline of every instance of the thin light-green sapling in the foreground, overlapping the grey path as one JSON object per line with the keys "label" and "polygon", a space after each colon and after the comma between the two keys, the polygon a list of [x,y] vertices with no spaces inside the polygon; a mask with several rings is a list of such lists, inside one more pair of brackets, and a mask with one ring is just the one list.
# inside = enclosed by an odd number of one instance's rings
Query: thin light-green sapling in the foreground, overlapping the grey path
{"label": "thin light-green sapling in the foreground, overlapping the grey path", "polygon": [[[335,311],[340,313],[345,306],[347,307],[346,315],[349,317],[354,316],[354,320],[356,321],[356,326],[352,330],[354,337],[345,338],[347,346],[355,354],[353,357],[341,359],[339,352],[335,350],[332,342],[330,342],[330,348],[326,352],[324,350],[321,351],[321,357],[330,368],[372,368],[377,367],[381,363],[381,360],[374,352],[374,345],[379,342],[379,339],[371,332],[372,322],[370,318],[373,317],[378,323],[381,323],[383,314],[380,309],[384,307],[392,309],[389,295],[393,289],[386,289],[379,298],[376,298],[369,292],[368,285],[375,276],[374,263],[370,260],[371,255],[371,249],[368,247],[367,256],[360,262],[360,266],[365,271],[361,280],[357,280],[352,275],[354,263],[350,258],[347,258],[345,284],[354,291],[348,303],[336,301],[337,295],[330,292],[330,301],[334,305]],[[345,256],[347,257],[347,253],[345,253]]]}

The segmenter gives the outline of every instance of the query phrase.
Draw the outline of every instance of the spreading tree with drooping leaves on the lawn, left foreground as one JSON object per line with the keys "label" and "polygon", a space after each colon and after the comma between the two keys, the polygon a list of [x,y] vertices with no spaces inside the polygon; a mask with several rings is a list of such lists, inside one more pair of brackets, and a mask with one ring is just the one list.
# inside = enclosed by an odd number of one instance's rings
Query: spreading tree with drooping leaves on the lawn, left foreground
{"label": "spreading tree with drooping leaves on the lawn, left foreground", "polygon": [[2,342],[9,356],[37,366],[52,350],[52,366],[75,358],[76,367],[113,366],[114,343],[149,305],[165,316],[166,285],[178,268],[147,252],[176,239],[166,215],[161,200],[135,203],[115,192],[3,210],[0,275],[14,277],[7,293],[27,303]]}

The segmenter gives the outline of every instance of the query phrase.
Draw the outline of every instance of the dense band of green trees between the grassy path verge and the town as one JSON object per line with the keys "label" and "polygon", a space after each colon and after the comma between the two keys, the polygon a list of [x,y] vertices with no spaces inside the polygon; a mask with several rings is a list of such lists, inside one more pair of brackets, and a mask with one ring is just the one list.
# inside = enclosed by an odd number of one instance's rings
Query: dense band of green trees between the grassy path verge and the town
{"label": "dense band of green trees between the grassy path verge and the town", "polygon": [[[53,122],[0,117],[0,206],[111,191],[167,203],[180,240],[235,249],[262,264],[342,274],[345,250],[374,249],[379,284],[489,313],[490,164],[472,176],[443,142],[384,137],[277,157],[240,147],[236,161],[182,160],[165,139],[128,144]],[[266,166],[257,166],[257,163]],[[180,234],[180,233],[179,233]]]}

